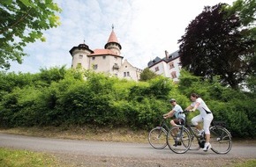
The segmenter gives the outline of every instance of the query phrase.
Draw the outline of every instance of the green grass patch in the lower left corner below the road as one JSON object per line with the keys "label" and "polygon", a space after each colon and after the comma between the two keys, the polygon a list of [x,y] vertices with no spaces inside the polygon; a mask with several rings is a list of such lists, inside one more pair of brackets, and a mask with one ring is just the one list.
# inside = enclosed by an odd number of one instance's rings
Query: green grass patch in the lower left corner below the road
{"label": "green grass patch in the lower left corner below the road", "polygon": [[64,166],[55,156],[27,150],[0,148],[0,166],[6,167],[56,167]]}

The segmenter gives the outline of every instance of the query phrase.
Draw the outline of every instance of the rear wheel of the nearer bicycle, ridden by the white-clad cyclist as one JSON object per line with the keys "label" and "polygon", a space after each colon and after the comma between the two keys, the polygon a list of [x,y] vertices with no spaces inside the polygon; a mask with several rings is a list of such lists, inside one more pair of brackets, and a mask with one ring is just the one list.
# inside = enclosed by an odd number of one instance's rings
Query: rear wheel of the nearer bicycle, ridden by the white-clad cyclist
{"label": "rear wheel of the nearer bicycle, ridden by the white-clad cyclist", "polygon": [[232,148],[232,140],[230,132],[220,126],[210,127],[212,150],[216,154],[227,154]]}

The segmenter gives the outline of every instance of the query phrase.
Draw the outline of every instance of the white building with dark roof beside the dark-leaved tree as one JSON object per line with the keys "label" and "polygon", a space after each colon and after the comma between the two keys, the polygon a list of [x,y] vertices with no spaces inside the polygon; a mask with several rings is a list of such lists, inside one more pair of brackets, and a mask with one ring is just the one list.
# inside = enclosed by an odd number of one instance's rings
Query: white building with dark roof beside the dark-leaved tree
{"label": "white building with dark roof beside the dark-leaved tree", "polygon": [[168,54],[165,51],[165,57],[156,57],[153,61],[147,63],[147,67],[157,75],[171,78],[174,82],[178,82],[180,76],[180,59],[178,51]]}

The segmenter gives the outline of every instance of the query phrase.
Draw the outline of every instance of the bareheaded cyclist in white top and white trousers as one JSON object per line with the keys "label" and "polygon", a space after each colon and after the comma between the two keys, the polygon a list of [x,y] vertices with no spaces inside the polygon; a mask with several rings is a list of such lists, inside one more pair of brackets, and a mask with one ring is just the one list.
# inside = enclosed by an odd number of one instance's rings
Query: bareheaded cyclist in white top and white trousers
{"label": "bareheaded cyclist in white top and white trousers", "polygon": [[[200,96],[196,93],[191,94],[192,105],[189,105],[185,110],[194,112],[196,109],[200,111],[200,114],[192,118],[192,124],[197,127],[199,130],[199,134],[206,134],[206,143],[204,147],[204,151],[211,149],[212,146],[210,144],[210,130],[209,127],[211,125],[212,120],[214,119],[213,113],[207,107],[206,103]],[[199,122],[203,121],[203,129],[200,127]]]}

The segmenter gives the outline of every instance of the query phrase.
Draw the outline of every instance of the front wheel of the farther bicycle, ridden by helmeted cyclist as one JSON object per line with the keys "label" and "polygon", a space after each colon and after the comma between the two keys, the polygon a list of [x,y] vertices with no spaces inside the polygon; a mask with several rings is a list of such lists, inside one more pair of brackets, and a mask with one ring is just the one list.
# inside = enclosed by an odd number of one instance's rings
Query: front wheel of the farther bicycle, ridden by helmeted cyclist
{"label": "front wheel of the farther bicycle, ridden by helmeted cyclist", "polygon": [[163,127],[154,127],[148,134],[148,142],[154,149],[164,149],[167,131]]}

